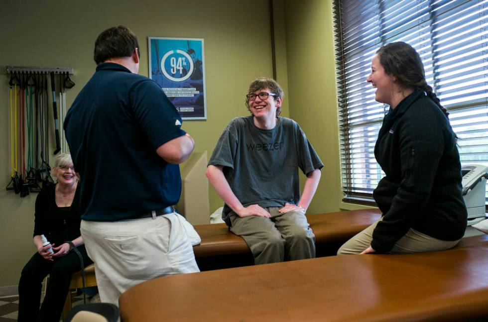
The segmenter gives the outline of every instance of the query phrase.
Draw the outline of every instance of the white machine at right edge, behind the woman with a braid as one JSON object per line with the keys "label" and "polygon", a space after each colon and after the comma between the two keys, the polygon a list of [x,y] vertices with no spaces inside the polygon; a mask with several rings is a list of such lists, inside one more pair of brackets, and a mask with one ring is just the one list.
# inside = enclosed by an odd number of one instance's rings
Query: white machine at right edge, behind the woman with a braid
{"label": "white machine at right edge, behind the woman with a braid", "polygon": [[461,168],[463,198],[468,208],[468,224],[475,223],[470,223],[472,221],[470,219],[485,218],[487,171],[488,167],[480,164],[469,164]]}

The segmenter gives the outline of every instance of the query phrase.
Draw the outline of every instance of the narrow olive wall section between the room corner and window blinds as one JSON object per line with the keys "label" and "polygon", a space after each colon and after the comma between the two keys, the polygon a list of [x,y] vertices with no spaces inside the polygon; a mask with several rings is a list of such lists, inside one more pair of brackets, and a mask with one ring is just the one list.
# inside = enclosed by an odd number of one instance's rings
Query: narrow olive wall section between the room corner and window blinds
{"label": "narrow olive wall section between the room corner and window blinds", "polygon": [[300,124],[325,165],[308,213],[339,211],[342,197],[332,4],[287,0],[285,12],[290,117]]}

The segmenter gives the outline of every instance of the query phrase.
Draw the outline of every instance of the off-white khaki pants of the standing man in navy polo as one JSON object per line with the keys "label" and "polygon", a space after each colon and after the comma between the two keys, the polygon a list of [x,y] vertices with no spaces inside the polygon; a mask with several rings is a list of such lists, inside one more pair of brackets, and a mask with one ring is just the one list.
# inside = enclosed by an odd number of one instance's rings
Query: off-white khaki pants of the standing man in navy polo
{"label": "off-white khaki pants of the standing man in navy polo", "polygon": [[172,213],[115,222],[81,221],[102,302],[119,306],[128,288],[160,276],[199,272],[185,218]]}

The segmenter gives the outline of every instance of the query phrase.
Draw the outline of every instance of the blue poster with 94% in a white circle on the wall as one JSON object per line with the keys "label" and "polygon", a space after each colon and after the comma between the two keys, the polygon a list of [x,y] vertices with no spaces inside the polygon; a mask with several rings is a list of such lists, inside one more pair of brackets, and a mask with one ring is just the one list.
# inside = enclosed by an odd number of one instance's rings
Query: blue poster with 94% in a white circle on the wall
{"label": "blue poster with 94% in a white circle on the wall", "polygon": [[149,78],[183,119],[207,119],[203,39],[149,37]]}

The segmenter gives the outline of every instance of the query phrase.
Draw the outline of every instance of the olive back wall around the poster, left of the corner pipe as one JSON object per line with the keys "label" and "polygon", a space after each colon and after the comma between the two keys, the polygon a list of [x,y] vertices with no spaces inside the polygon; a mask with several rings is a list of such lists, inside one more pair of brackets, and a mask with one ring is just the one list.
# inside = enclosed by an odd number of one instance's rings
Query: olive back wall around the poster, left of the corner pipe
{"label": "olive back wall around the poster, left of the corner pipe", "polygon": [[[284,8],[275,1],[278,81],[287,91],[284,52]],[[246,115],[244,95],[259,76],[272,77],[268,2],[262,0],[85,0],[1,2],[0,68],[13,66],[73,67],[76,86],[67,105],[95,71],[93,45],[98,34],[123,24],[134,31],[141,47],[140,74],[148,75],[147,37],[205,39],[208,120],[184,121],[196,151],[212,152],[227,123]],[[0,86],[0,187],[9,181],[8,78]],[[283,115],[288,116],[284,104]],[[51,147],[52,148],[52,147]],[[51,164],[53,157],[51,157]],[[107,165],[107,171],[111,171]],[[1,188],[3,189],[3,188]],[[36,194],[21,199],[0,190],[0,296],[16,285],[25,262],[34,253],[33,208]],[[211,210],[222,201],[211,189]],[[2,288],[4,287],[4,288]],[[10,289],[9,289],[10,290]]]}

